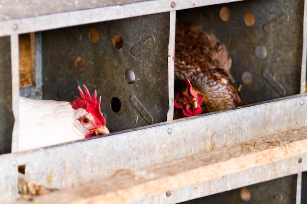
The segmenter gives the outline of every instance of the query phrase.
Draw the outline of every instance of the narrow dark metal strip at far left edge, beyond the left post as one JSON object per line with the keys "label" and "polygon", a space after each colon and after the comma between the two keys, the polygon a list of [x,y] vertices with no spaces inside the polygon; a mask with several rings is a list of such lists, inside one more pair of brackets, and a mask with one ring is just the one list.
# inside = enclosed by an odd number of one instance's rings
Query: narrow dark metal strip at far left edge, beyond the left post
{"label": "narrow dark metal strip at far left edge, beyond the left post", "polygon": [[0,38],[0,154],[11,152],[14,124],[10,50],[10,38]]}

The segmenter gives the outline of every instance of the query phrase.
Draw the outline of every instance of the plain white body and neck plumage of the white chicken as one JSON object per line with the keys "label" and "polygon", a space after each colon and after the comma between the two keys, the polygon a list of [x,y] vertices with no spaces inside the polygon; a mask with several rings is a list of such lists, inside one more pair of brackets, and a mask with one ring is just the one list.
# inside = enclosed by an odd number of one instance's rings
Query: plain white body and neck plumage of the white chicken
{"label": "plain white body and neck plumage of the white chicken", "polygon": [[84,138],[76,119],[85,113],[70,102],[20,97],[18,151]]}

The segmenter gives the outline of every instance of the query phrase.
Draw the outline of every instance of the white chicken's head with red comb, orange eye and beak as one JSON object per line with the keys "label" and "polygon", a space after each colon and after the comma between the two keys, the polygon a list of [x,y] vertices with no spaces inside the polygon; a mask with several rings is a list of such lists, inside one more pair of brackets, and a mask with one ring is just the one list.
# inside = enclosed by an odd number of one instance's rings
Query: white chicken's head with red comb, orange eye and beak
{"label": "white chicken's head with red comb, orange eye and beak", "polygon": [[105,126],[105,119],[100,110],[101,96],[97,101],[97,90],[95,90],[93,98],[90,92],[83,85],[84,93],[80,87],[80,98],[75,96],[72,108],[76,110],[74,121],[74,130],[86,137],[98,136],[110,133]]}

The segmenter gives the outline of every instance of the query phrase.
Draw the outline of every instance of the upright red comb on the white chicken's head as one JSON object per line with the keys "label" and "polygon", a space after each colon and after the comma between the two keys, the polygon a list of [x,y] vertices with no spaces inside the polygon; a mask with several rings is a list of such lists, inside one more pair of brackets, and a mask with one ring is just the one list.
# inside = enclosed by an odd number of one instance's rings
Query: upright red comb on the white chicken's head
{"label": "upright red comb on the white chicken's head", "polygon": [[80,87],[78,87],[80,98],[75,96],[75,99],[72,103],[73,109],[85,109],[86,112],[92,113],[92,115],[95,118],[95,121],[98,125],[105,125],[104,117],[100,110],[100,102],[101,102],[101,96],[99,96],[99,99],[97,101],[97,90],[94,91],[93,98],[91,97],[90,91],[86,88],[86,86],[83,84],[84,93],[81,90]]}

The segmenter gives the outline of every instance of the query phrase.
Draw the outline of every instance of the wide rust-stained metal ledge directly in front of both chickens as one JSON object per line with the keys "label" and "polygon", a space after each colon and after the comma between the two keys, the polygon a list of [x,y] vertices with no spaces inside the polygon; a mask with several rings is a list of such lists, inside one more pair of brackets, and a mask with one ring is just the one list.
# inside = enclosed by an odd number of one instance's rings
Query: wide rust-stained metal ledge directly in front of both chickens
{"label": "wide rust-stained metal ledge directly in front of both chickens", "polygon": [[[44,186],[65,189],[307,125],[307,93],[0,156],[0,203],[14,201],[18,166]],[[196,128],[197,127],[197,128]],[[107,164],[107,165],[106,165]]]}

